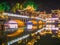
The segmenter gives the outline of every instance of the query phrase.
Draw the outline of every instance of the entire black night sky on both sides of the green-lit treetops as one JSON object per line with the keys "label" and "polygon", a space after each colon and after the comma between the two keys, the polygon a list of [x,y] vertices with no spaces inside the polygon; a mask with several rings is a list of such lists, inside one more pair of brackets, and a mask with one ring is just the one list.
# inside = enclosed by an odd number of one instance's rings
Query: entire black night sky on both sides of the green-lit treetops
{"label": "entire black night sky on both sides of the green-lit treetops", "polygon": [[[0,2],[8,2],[10,4],[20,2],[24,3],[27,0],[1,0]],[[60,9],[60,1],[59,0],[31,0],[38,5],[39,10],[50,10],[50,9]]]}

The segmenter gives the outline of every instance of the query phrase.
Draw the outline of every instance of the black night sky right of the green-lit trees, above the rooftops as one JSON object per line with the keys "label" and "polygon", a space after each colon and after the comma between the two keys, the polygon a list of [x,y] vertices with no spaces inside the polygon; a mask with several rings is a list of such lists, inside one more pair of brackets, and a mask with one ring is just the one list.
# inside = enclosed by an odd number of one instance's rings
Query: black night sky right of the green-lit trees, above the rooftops
{"label": "black night sky right of the green-lit trees, above the rooftops", "polygon": [[[44,9],[58,9],[60,8],[59,0],[35,0],[37,4],[41,4]],[[41,6],[39,6],[41,7]]]}

